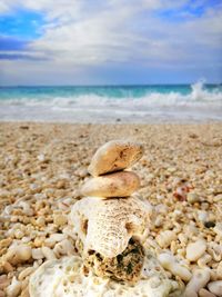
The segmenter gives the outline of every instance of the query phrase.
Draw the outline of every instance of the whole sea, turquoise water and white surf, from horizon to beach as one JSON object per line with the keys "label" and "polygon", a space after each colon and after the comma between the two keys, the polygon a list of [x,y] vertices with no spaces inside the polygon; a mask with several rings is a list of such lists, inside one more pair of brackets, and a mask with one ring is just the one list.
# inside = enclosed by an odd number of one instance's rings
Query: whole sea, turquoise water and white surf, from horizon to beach
{"label": "whole sea, turquoise water and white surf, from horizon to beach", "polygon": [[222,121],[222,85],[0,87],[0,121]]}

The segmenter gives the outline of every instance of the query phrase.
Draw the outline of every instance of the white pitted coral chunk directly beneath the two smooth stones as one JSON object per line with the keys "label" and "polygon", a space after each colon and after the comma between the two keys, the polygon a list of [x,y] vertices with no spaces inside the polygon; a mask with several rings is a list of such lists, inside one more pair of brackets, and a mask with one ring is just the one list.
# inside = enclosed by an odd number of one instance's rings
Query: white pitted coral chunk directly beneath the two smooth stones
{"label": "white pitted coral chunk directly beneath the two smooth stones", "polygon": [[85,197],[72,207],[70,222],[90,249],[112,258],[121,254],[132,236],[142,240],[151,207],[138,197],[101,199]]}

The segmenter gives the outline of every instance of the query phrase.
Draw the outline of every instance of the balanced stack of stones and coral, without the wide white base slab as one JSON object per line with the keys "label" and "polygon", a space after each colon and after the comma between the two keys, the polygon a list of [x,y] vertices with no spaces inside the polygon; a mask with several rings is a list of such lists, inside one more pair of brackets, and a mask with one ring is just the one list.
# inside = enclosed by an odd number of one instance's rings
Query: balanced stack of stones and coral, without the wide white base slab
{"label": "balanced stack of stones and coral, without the wide white base slab", "polygon": [[85,267],[98,276],[128,281],[140,276],[150,206],[133,195],[140,178],[125,169],[142,154],[141,145],[124,140],[99,148],[88,168],[92,178],[81,188],[84,198],[72,208],[70,221],[82,242]]}

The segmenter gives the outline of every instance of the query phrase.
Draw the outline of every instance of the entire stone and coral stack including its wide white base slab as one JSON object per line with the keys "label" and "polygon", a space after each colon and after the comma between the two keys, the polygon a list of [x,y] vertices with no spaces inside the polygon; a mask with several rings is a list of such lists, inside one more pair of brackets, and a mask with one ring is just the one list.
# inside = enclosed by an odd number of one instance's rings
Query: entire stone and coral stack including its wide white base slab
{"label": "entire stone and coral stack including its wide white base slab", "polygon": [[69,218],[79,253],[41,265],[30,278],[30,297],[163,297],[176,288],[147,247],[151,206],[134,194],[139,177],[125,170],[142,152],[142,146],[120,140],[95,152],[92,178],[81,189],[87,197]]}

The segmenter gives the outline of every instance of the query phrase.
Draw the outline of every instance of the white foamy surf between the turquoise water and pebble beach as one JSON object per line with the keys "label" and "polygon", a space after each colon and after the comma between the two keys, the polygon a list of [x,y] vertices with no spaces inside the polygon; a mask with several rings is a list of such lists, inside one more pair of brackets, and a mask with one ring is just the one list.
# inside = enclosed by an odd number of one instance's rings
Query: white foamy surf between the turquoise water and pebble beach
{"label": "white foamy surf between the turquoise water and pebble beach", "polygon": [[56,120],[100,122],[121,117],[124,121],[160,120],[222,120],[222,90],[204,89],[199,81],[191,86],[188,95],[171,91],[150,92],[133,98],[125,92],[124,98],[94,93],[75,97],[18,98],[0,100],[0,120]]}

